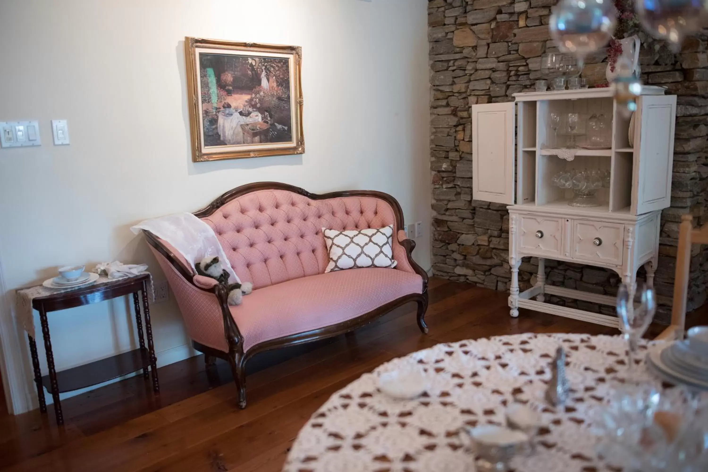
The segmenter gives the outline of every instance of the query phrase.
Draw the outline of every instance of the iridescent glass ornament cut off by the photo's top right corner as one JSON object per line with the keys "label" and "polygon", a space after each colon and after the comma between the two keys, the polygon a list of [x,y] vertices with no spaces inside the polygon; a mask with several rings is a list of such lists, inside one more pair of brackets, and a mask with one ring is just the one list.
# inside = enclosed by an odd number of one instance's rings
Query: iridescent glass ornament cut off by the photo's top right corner
{"label": "iridescent glass ornament cut off by the photo's top right corner", "polygon": [[636,0],[636,13],[654,38],[667,40],[678,52],[686,35],[701,29],[706,13],[701,0]]}

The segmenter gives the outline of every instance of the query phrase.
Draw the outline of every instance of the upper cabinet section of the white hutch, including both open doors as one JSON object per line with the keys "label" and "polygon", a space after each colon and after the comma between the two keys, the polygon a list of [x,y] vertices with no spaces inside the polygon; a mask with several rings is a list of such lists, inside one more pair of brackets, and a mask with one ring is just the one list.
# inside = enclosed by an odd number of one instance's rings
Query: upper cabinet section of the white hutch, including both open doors
{"label": "upper cabinet section of the white hutch, including both open doors", "polygon": [[515,102],[472,105],[474,200],[617,217],[668,207],[676,97],[646,86],[630,117],[614,92],[515,93]]}

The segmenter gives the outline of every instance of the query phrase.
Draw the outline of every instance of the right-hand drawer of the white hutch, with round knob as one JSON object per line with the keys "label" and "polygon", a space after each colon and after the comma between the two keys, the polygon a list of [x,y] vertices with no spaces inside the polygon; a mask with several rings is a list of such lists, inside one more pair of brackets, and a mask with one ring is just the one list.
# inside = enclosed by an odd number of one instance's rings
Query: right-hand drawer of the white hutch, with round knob
{"label": "right-hand drawer of the white hutch, with round knob", "polygon": [[571,258],[622,265],[624,224],[573,220]]}

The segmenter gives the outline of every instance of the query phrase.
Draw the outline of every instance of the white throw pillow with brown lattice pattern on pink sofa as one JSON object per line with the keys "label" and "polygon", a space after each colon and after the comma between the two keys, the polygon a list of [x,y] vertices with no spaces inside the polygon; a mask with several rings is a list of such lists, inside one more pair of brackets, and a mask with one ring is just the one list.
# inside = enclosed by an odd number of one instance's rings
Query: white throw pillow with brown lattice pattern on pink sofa
{"label": "white throw pillow with brown lattice pattern on pink sofa", "polygon": [[324,272],[359,267],[396,267],[391,243],[394,225],[337,231],[322,228],[329,264]]}

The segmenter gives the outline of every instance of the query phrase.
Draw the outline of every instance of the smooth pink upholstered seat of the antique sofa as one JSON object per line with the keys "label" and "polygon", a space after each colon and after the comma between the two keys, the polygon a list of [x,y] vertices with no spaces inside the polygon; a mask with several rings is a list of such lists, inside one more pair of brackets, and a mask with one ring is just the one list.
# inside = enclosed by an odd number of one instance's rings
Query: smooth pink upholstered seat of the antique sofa
{"label": "smooth pink upholstered seat of the antique sofa", "polygon": [[420,275],[396,269],[341,270],[254,290],[231,313],[244,351],[263,341],[356,318],[407,294],[423,292]]}

